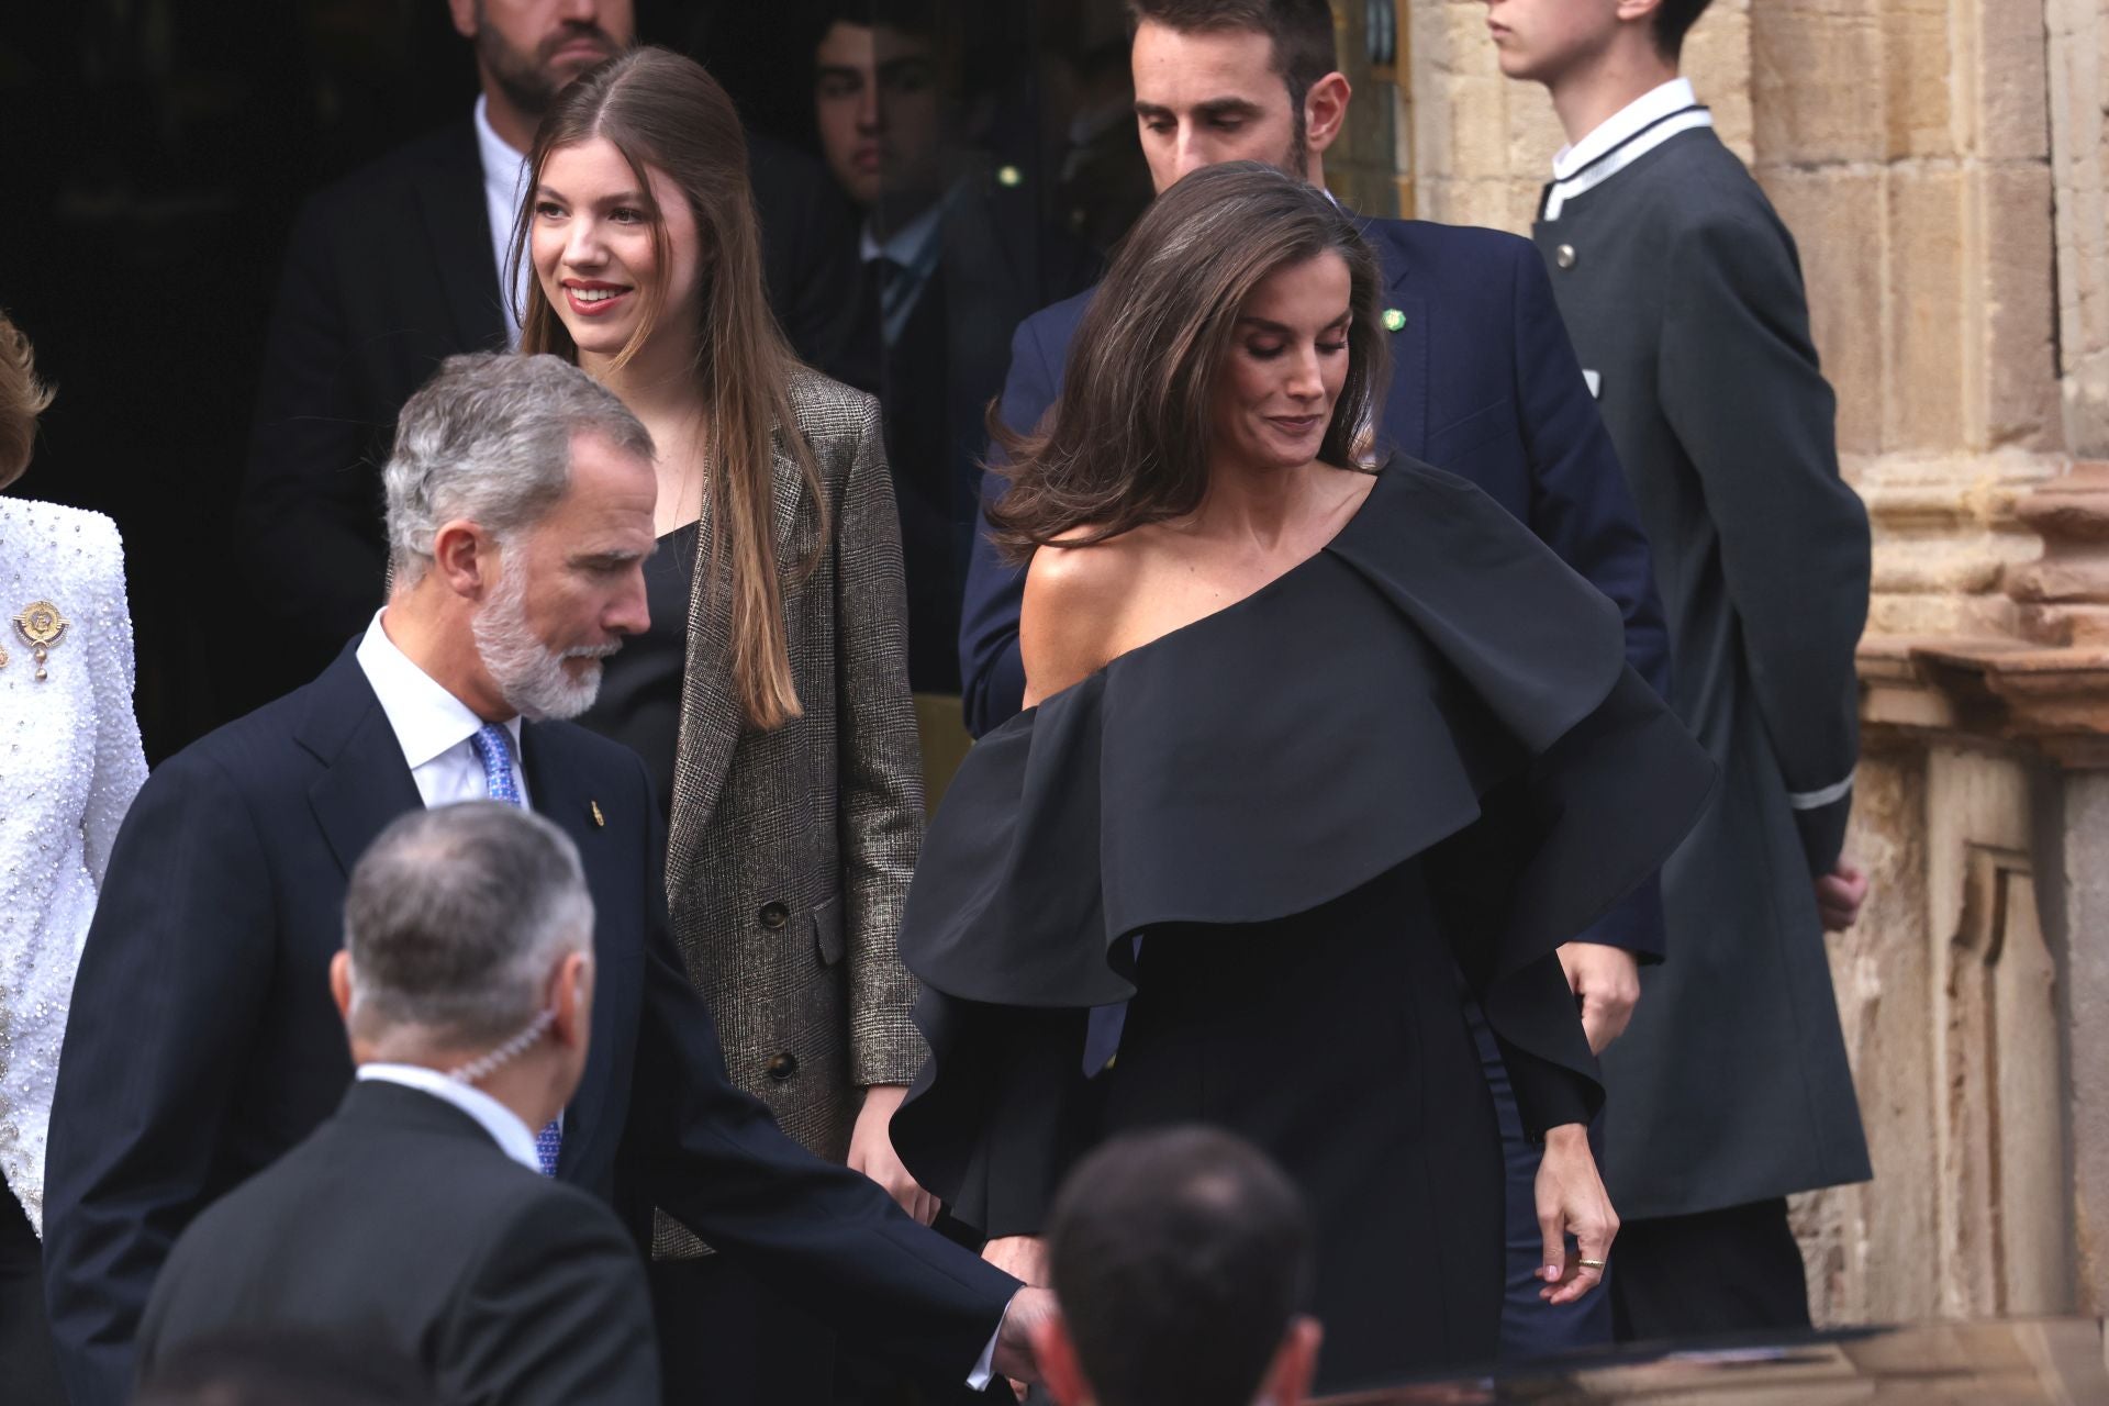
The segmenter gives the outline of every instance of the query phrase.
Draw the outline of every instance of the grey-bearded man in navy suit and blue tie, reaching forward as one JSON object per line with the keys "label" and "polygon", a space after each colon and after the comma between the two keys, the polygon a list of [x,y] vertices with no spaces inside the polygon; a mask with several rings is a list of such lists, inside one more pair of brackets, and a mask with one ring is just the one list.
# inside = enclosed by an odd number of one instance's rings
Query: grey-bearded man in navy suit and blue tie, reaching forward
{"label": "grey-bearded man in navy suit and blue tie, reaching forward", "polygon": [[327,993],[348,871],[396,816],[466,799],[555,822],[597,915],[593,1043],[538,1136],[542,1166],[633,1235],[662,1206],[930,1389],[1027,1372],[1044,1290],[806,1153],[725,1079],[666,925],[643,763],[561,721],[647,626],[645,428],[555,356],[456,356],[403,407],[384,481],[386,607],[316,681],[162,763],[118,833],[46,1159],[44,1280],[74,1406],[124,1400],[183,1227],[342,1100],[352,1065]]}

